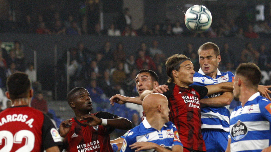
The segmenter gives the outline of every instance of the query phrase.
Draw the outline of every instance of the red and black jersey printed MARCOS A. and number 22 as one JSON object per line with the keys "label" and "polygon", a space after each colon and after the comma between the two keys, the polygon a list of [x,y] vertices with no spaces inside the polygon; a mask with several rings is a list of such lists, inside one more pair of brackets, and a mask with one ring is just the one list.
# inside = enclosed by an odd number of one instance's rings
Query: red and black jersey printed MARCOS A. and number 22
{"label": "red and black jersey printed MARCOS A. and number 22", "polygon": [[61,144],[50,118],[28,106],[0,112],[0,151],[43,151]]}

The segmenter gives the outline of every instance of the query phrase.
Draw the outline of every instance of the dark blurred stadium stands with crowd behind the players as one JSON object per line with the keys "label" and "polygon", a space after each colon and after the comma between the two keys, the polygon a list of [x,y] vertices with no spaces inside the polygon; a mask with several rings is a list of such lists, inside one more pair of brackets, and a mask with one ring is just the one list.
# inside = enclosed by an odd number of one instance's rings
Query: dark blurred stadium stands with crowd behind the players
{"label": "dark blurred stadium stands with crowd behind the players", "polygon": [[[213,17],[203,33],[190,32],[184,14],[206,6]],[[138,96],[134,79],[151,69],[167,81],[165,59],[182,53],[198,71],[197,50],[211,41],[220,47],[220,71],[241,62],[262,70],[261,84],[271,85],[271,1],[269,0],[0,0],[0,108],[6,78],[16,71],[30,75],[33,107],[59,125],[73,117],[67,92],[85,87],[96,111],[140,122],[142,107],[109,104],[117,93]],[[35,103],[38,103],[35,105]],[[233,101],[230,108],[239,105]],[[113,135],[123,134],[116,131]],[[125,133],[125,131],[124,131]]]}

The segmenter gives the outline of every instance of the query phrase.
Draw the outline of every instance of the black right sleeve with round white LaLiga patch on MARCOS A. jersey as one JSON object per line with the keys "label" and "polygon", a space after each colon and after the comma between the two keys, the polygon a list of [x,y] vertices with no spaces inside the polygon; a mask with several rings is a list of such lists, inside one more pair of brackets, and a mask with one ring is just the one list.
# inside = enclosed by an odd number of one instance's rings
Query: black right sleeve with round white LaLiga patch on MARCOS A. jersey
{"label": "black right sleeve with round white LaLiga patch on MARCOS A. jersey", "polygon": [[58,130],[55,129],[51,119],[46,114],[43,114],[43,116],[42,146],[46,150],[50,147],[61,145],[62,142]]}

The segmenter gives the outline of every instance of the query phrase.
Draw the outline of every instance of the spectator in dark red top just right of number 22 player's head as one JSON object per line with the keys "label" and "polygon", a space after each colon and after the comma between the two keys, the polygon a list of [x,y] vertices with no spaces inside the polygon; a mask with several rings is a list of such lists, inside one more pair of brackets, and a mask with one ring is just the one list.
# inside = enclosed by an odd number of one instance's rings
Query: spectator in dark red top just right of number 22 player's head
{"label": "spectator in dark red top just right of number 22 player's head", "polygon": [[41,91],[37,91],[36,95],[31,101],[31,107],[42,111],[43,113],[48,113],[47,101],[43,98]]}

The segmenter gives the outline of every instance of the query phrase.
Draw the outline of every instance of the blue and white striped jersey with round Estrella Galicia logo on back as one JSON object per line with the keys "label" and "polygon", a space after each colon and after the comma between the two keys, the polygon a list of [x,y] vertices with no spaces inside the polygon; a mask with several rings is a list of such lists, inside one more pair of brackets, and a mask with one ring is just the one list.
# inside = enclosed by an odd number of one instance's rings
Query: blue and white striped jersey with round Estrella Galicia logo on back
{"label": "blue and white striped jersey with round Estrella Galicia logo on back", "polygon": [[257,92],[230,117],[231,152],[260,152],[271,145],[271,102]]}

